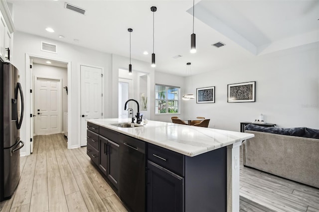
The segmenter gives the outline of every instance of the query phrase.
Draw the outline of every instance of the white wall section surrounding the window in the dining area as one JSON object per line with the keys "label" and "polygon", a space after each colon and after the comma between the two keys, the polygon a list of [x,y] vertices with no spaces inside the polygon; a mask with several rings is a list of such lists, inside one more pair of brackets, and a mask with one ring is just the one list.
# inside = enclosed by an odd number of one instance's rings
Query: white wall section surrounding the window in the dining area
{"label": "white wall section surrounding the window in the dining area", "polygon": [[[172,74],[167,74],[163,72],[155,72],[155,84],[167,85],[167,86],[176,86],[180,87],[181,96],[180,96],[180,114],[156,114],[154,115],[154,120],[171,122],[171,116],[180,116],[180,117],[188,117],[188,114],[185,113],[184,106],[186,104],[185,101],[181,99],[184,91],[184,77],[176,76]],[[155,86],[155,85],[154,85]],[[155,92],[153,93],[153,96]],[[152,102],[155,104],[155,102]],[[155,111],[153,110],[155,114]]]}

